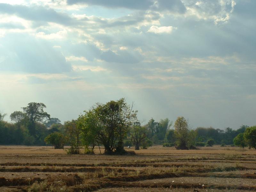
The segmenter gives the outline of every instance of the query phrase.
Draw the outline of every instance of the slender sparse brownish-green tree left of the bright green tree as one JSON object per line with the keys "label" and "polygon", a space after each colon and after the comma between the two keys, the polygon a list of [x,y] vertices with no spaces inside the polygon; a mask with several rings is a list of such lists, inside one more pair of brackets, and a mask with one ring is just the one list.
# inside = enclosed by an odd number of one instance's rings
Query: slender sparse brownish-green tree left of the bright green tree
{"label": "slender sparse brownish-green tree left of the bright green tree", "polygon": [[67,142],[70,145],[69,154],[79,154],[81,148],[81,130],[76,126],[76,121],[66,121]]}

